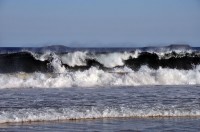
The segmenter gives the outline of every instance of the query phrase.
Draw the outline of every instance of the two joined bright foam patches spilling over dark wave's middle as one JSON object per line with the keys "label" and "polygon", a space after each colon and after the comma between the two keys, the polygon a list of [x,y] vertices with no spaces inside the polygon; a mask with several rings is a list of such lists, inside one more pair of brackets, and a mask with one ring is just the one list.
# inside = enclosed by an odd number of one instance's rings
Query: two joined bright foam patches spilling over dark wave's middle
{"label": "two joined bright foam patches spilling over dark wave's middle", "polygon": [[104,65],[104,67],[113,68],[116,66],[123,66],[124,60],[129,57],[136,58],[138,52],[113,52],[104,54],[89,54],[87,51],[76,51],[62,55],[61,60],[63,64],[67,64],[71,67],[74,66],[85,66],[86,59],[93,59]]}

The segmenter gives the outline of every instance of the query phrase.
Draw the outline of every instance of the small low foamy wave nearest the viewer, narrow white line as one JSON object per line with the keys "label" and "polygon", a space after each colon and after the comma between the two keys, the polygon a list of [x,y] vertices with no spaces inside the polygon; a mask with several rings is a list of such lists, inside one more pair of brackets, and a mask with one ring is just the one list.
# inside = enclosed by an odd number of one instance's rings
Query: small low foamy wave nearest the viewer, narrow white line
{"label": "small low foamy wave nearest the viewer, narrow white line", "polygon": [[156,106],[154,108],[131,108],[125,106],[90,107],[90,108],[39,108],[1,111],[0,123],[54,121],[54,120],[79,120],[97,118],[122,118],[122,117],[198,117],[198,108],[178,108],[176,106]]}

